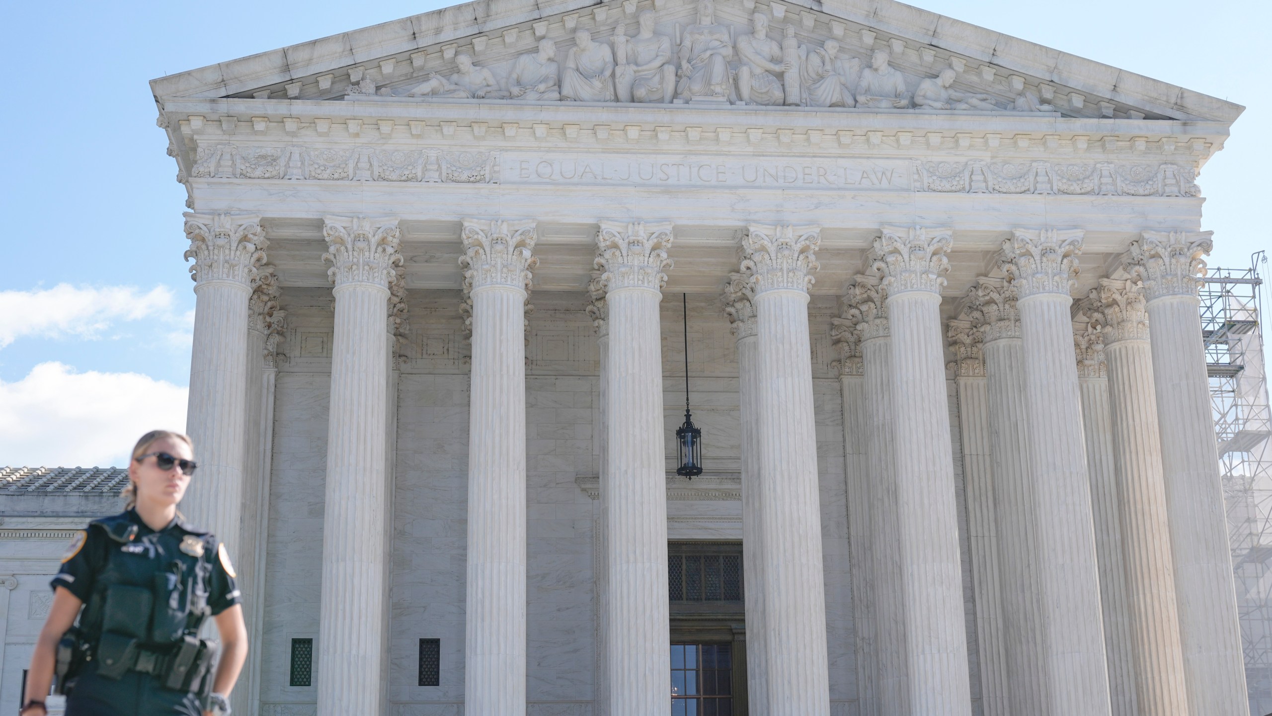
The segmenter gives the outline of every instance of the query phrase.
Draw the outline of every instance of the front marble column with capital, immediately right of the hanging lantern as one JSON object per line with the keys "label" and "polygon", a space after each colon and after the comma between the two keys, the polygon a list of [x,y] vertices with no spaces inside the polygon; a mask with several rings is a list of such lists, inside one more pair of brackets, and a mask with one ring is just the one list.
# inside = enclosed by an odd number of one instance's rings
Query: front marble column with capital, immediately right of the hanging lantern
{"label": "front marble column with capital, immediately right of the hanging lantern", "polygon": [[[820,227],[749,224],[768,716],[829,716],[808,289]],[[761,706],[762,708],[762,706]]]}

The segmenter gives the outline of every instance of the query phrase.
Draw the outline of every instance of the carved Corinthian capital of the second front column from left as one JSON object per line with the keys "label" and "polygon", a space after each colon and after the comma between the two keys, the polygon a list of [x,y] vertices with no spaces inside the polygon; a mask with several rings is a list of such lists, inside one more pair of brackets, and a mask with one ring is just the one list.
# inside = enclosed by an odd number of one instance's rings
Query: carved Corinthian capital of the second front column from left
{"label": "carved Corinthian capital of the second front column from left", "polygon": [[397,218],[324,217],[322,234],[331,261],[327,278],[340,288],[351,283],[373,284],[388,290],[402,265],[398,246],[402,232]]}

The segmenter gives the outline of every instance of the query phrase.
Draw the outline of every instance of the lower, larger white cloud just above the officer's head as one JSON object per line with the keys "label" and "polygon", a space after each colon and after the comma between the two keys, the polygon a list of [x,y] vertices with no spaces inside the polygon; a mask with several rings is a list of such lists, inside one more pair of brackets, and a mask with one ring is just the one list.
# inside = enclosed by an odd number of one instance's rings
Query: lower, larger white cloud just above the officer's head
{"label": "lower, larger white cloud just above the officer's head", "polygon": [[0,465],[123,466],[146,431],[184,431],[187,395],[141,373],[41,363],[0,381]]}

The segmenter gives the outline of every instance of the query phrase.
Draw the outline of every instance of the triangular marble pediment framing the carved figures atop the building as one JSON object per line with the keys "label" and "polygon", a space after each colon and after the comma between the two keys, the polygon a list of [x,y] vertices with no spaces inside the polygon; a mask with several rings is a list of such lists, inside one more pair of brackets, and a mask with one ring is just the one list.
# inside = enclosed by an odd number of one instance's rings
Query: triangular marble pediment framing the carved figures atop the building
{"label": "triangular marble pediment framing the carved figures atop the building", "polygon": [[[899,73],[893,76],[904,78],[904,93],[909,98],[902,108],[889,107],[887,111],[1053,112],[1063,117],[1202,120],[1225,125],[1243,111],[1243,107],[1230,102],[892,0],[838,0],[834,4],[814,0],[717,0],[714,10],[714,24],[726,28],[731,43],[728,102],[733,103],[742,99],[738,97],[738,76],[747,64],[740,56],[739,41],[745,42],[752,34],[752,18],[758,13],[770,24],[772,45],[768,50],[773,61],[782,60],[778,47],[786,39],[787,52],[798,47],[798,54],[787,54],[787,57],[798,61],[798,57],[817,54],[819,60],[814,61],[833,65],[842,75],[848,94],[857,92],[860,73],[870,66],[873,54],[885,50],[889,68]],[[558,89],[569,96],[570,83],[563,74],[576,45],[576,31],[589,31],[595,42],[608,46],[612,52],[616,43],[630,41],[621,38],[637,34],[639,18],[645,13],[654,14],[654,33],[670,41],[677,76],[683,75],[684,62],[678,50],[698,19],[698,4],[693,0],[572,0],[557,4],[478,0],[165,76],[153,80],[151,87],[160,102],[164,98],[221,97],[370,102],[446,102],[455,98],[477,102],[556,101],[551,92],[543,97],[510,96],[516,84],[510,75],[519,56],[534,55],[542,39],[553,41],[552,60],[561,70],[561,84],[566,85]],[[823,50],[827,41],[838,46],[829,62]],[[460,71],[457,65],[464,56],[477,70]],[[618,64],[622,64],[621,57]],[[946,69],[954,71],[953,83],[935,88],[932,80]],[[785,82],[781,73],[772,74]],[[466,97],[471,93],[463,89],[473,87],[474,76],[478,78],[477,85],[491,89],[481,92],[480,98]],[[925,80],[929,80],[926,87],[921,87]],[[833,92],[822,93],[820,99],[810,97],[806,89],[809,83],[805,79],[799,101],[784,103],[826,106],[832,102],[833,107],[838,107],[837,102],[826,98]],[[757,80],[756,87],[762,84]],[[790,85],[785,90],[786,97],[800,93]],[[622,88],[613,98],[590,96],[586,89],[576,87],[572,92],[581,92],[577,98],[589,102],[625,101]],[[780,93],[776,89],[772,92]],[[945,92],[948,97],[936,97],[934,92]],[[689,94],[677,93],[674,102],[711,99]],[[922,99],[917,104],[926,106],[916,106],[917,99]]]}

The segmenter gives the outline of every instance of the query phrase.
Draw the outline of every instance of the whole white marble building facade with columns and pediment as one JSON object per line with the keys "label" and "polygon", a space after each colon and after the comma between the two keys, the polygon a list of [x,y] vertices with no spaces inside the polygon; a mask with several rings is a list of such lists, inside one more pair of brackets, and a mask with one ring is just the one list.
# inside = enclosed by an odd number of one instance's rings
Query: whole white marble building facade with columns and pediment
{"label": "whole white marble building facade with columns and pediment", "polygon": [[890,0],[469,3],[151,88],[237,711],[667,713],[728,633],[753,716],[1248,712],[1196,283],[1241,107]]}

